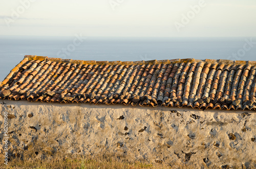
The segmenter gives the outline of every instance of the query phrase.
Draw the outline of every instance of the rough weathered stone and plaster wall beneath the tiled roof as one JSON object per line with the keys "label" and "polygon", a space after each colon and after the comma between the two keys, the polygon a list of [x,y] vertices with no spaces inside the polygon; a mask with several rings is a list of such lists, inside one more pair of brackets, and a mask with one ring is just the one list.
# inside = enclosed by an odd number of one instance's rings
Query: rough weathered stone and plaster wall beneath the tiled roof
{"label": "rough weathered stone and plaster wall beneath the tiled roof", "polygon": [[[203,168],[256,167],[256,112],[1,102],[0,128],[8,112],[9,152],[18,158],[105,155]],[[0,142],[3,147],[3,134]]]}

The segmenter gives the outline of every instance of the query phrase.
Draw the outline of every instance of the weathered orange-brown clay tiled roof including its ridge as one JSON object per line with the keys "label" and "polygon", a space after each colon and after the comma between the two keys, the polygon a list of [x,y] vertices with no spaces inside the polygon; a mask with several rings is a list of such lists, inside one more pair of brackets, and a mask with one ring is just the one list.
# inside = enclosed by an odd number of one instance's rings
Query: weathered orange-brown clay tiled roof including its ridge
{"label": "weathered orange-brown clay tiled roof including its ridge", "polygon": [[25,56],[1,99],[256,110],[256,61],[81,61]]}

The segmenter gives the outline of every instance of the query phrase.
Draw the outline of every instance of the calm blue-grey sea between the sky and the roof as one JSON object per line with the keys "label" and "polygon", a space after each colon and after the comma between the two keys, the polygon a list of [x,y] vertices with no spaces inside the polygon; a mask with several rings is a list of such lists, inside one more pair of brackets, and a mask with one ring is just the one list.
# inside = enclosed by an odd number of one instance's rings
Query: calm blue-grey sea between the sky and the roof
{"label": "calm blue-grey sea between the sky and the roof", "polygon": [[96,61],[256,61],[256,37],[0,36],[0,81],[25,55]]}

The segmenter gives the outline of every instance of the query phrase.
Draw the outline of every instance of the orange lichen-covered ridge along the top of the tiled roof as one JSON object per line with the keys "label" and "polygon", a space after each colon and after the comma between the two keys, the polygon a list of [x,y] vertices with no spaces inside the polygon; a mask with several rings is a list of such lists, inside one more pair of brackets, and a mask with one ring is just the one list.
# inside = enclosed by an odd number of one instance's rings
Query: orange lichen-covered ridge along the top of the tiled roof
{"label": "orange lichen-covered ridge along the top of the tiled roof", "polygon": [[171,59],[171,60],[141,60],[141,61],[95,61],[95,60],[73,60],[73,59],[61,59],[61,58],[49,58],[47,56],[36,56],[36,55],[26,55],[24,58],[28,58],[28,60],[50,60],[55,62],[63,62],[63,63],[76,63],[76,64],[109,64],[109,65],[143,65],[143,64],[171,64],[171,63],[188,63],[188,62],[205,62],[211,64],[229,64],[229,65],[256,65],[256,61],[240,61],[240,60],[225,60],[225,59]]}

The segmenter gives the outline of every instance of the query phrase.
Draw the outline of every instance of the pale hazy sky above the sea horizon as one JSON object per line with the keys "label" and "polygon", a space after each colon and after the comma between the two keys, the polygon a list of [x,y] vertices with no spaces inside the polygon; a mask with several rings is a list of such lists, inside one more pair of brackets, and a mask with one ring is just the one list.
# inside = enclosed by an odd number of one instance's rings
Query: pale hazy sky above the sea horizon
{"label": "pale hazy sky above the sea horizon", "polygon": [[0,0],[0,35],[256,36],[255,0]]}

